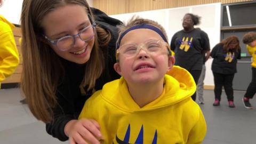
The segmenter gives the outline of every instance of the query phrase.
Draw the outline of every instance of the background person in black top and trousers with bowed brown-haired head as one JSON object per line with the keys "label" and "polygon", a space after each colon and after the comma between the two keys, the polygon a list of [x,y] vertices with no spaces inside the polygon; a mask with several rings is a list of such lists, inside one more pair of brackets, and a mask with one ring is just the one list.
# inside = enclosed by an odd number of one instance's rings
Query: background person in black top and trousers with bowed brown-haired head
{"label": "background person in black top and trousers with bowed brown-haired head", "polygon": [[230,36],[217,45],[211,51],[212,73],[214,77],[214,95],[213,106],[219,106],[221,100],[222,86],[224,86],[229,107],[234,108],[233,79],[237,72],[237,59],[241,59],[241,48],[236,36]]}

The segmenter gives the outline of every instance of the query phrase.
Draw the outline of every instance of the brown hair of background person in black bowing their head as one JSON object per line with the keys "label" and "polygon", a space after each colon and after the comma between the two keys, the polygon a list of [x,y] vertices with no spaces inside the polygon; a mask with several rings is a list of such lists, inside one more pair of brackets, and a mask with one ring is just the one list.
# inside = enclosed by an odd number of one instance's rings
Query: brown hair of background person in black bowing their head
{"label": "brown hair of background person in black bowing their head", "polygon": [[[239,39],[236,36],[229,36],[226,39],[223,39],[220,43],[223,44],[224,52],[238,52],[238,50],[241,50],[241,47],[239,45]],[[237,43],[237,46],[235,47],[235,49],[230,50],[229,44],[234,44],[234,43]]]}

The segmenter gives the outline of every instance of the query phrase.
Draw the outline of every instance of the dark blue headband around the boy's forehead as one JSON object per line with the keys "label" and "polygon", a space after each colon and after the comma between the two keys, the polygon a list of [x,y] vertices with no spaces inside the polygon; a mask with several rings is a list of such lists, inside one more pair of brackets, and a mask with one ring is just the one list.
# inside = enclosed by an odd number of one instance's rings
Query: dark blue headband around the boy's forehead
{"label": "dark blue headband around the boy's forehead", "polygon": [[118,42],[116,43],[116,49],[119,48],[120,43],[121,43],[121,40],[123,39],[124,35],[126,35],[126,34],[127,34],[129,31],[131,31],[131,30],[134,30],[134,29],[141,29],[141,28],[146,28],[146,29],[151,29],[151,30],[156,31],[156,33],[159,34],[159,35],[164,39],[164,41],[165,41],[166,43],[168,43],[168,42],[167,42],[167,39],[165,38],[165,36],[164,36],[164,34],[163,34],[163,32],[162,32],[159,28],[154,27],[154,26],[151,26],[151,25],[143,24],[143,25],[137,25],[137,26],[130,27],[129,29],[126,29],[126,30],[124,31],[124,33],[120,36]]}

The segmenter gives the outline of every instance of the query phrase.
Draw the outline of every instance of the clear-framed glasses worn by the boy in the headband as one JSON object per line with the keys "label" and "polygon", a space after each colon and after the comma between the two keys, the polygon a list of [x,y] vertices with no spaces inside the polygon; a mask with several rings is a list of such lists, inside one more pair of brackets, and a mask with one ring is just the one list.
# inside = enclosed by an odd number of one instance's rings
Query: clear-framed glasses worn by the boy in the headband
{"label": "clear-framed glasses worn by the boy in the headband", "polygon": [[133,57],[137,55],[141,49],[149,54],[154,54],[154,53],[161,52],[165,46],[167,46],[167,50],[169,50],[169,44],[167,44],[166,42],[163,42],[157,39],[152,39],[150,41],[147,41],[141,44],[136,44],[136,43],[124,44],[120,46],[119,49],[116,50],[116,54],[117,56],[120,53],[125,57]]}

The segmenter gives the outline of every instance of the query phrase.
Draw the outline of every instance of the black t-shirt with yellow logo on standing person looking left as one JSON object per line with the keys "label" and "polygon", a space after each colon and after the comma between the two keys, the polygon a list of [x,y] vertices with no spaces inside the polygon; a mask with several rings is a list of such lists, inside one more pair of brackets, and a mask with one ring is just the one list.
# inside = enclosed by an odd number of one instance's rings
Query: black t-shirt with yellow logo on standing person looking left
{"label": "black t-shirt with yellow logo on standing person looking left", "polygon": [[178,31],[172,37],[171,50],[175,52],[174,65],[187,70],[201,70],[203,65],[203,51],[210,51],[207,34],[199,29],[189,32]]}

